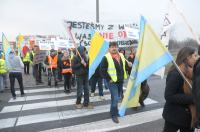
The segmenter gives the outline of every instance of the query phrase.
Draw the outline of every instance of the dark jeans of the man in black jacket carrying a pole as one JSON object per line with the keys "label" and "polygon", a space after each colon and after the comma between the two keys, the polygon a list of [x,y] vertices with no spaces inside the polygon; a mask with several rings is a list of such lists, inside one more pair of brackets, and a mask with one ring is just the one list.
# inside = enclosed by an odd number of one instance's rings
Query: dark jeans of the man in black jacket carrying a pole
{"label": "dark jeans of the man in black jacket carrying a pole", "polygon": [[76,76],[77,81],[77,100],[76,104],[81,104],[81,98],[84,91],[84,101],[83,105],[87,106],[89,104],[89,81],[88,76]]}

